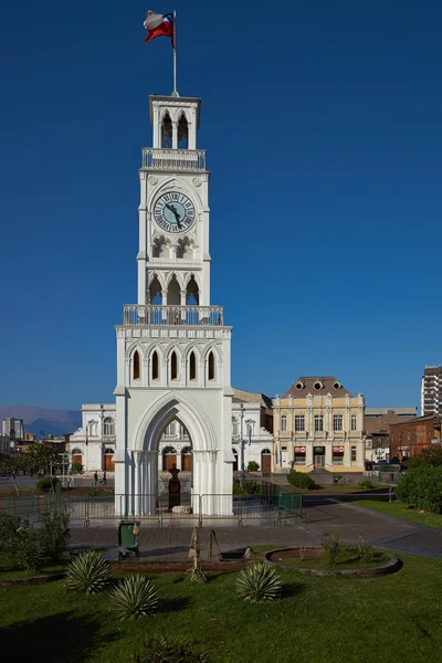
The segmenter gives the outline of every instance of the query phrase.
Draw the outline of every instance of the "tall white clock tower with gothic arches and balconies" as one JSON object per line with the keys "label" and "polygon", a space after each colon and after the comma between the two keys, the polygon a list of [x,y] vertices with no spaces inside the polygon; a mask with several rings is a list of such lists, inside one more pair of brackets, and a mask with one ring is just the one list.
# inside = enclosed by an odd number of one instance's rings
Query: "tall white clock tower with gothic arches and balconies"
{"label": "tall white clock tower with gothic arches and balconies", "polygon": [[158,445],[177,419],[192,445],[192,506],[232,508],[231,327],[210,304],[209,172],[200,99],[150,96],[154,147],[139,170],[138,303],[117,333],[115,508],[148,515]]}

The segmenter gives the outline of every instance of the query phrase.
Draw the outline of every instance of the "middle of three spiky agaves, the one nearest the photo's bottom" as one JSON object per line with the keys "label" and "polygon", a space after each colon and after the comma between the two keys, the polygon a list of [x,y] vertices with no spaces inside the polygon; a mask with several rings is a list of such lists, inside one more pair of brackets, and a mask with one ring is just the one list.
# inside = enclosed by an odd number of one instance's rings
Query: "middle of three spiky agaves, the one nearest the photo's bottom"
{"label": "middle of three spiky agaves, the one nearest the photo's bottom", "polygon": [[136,619],[157,609],[158,592],[145,576],[127,576],[112,593],[113,609],[120,619]]}

